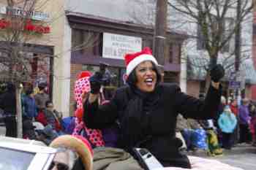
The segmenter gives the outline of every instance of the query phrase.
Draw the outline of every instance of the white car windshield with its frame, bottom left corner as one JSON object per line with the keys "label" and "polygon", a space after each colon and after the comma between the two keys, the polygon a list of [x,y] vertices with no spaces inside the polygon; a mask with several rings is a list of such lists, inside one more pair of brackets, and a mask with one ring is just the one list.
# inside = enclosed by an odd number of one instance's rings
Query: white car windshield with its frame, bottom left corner
{"label": "white car windshield with its frame, bottom left corner", "polygon": [[56,149],[42,142],[0,136],[0,169],[48,170]]}

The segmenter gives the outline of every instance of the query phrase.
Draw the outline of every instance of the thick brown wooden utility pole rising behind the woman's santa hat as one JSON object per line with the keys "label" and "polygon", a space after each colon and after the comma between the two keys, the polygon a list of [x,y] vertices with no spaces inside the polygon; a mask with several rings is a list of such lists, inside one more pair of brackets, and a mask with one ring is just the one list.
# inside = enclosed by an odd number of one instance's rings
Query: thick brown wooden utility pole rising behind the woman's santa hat
{"label": "thick brown wooden utility pole rising behind the woman's santa hat", "polygon": [[157,0],[156,21],[154,28],[154,57],[160,65],[165,64],[165,40],[167,28],[167,0]]}

